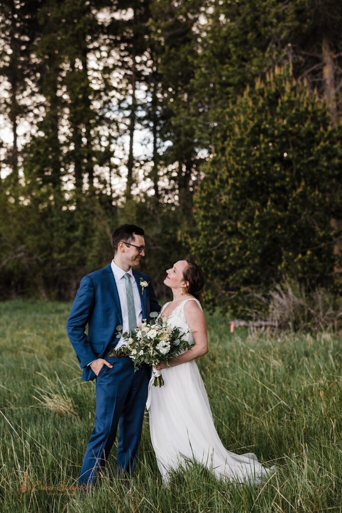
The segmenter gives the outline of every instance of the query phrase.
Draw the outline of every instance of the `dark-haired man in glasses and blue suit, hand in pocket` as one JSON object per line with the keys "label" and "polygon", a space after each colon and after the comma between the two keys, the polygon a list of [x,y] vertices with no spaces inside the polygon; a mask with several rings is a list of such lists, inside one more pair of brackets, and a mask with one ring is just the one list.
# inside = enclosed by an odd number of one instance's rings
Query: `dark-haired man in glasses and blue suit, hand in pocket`
{"label": "dark-haired man in glasses and blue suit, hand in pocket", "polygon": [[132,360],[117,355],[124,341],[116,337],[115,328],[122,325],[123,332],[130,331],[151,311],[160,310],[150,277],[133,270],[145,255],[144,230],[121,225],[112,233],[112,246],[112,262],[82,278],[67,321],[82,380],[96,378],[94,428],[78,477],[83,488],[94,483],[98,467],[105,467],[117,426],[117,474],[130,475],[134,468],[151,368],[143,364],[134,372]]}

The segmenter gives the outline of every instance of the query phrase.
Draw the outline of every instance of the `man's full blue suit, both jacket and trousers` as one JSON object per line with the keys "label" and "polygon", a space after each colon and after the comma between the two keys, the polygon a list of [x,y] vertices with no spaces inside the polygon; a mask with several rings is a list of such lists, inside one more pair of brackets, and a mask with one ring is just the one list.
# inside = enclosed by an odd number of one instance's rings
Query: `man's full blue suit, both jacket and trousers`
{"label": "man's full blue suit, both jacket and trousers", "polygon": [[[133,270],[137,282],[143,319],[150,312],[159,311],[151,279],[147,274]],[[140,278],[149,283],[142,292]],[[88,334],[85,328],[88,324]],[[119,295],[111,265],[91,272],[81,280],[67,321],[67,332],[83,369],[82,380],[96,378],[96,409],[94,429],[85,453],[79,485],[92,484],[98,466],[105,466],[114,443],[117,425],[118,473],[133,470],[140,441],[151,368],[144,364],[134,372],[130,358],[106,357],[118,342],[116,326],[123,324]],[[97,358],[104,358],[112,368],[104,365],[99,373],[87,366]]]}

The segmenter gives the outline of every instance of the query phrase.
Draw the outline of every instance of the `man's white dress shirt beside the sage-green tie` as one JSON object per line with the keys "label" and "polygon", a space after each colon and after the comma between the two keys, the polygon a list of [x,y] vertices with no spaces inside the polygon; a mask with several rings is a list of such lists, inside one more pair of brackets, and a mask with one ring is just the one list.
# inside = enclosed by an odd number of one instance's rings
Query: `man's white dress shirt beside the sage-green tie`
{"label": "man's white dress shirt beside the sage-green tie", "polygon": [[[110,264],[114,279],[117,287],[117,292],[119,294],[119,300],[121,305],[121,312],[123,315],[123,333],[125,331],[128,331],[128,309],[127,309],[127,296],[126,296],[126,284],[125,284],[125,278],[124,275],[126,272],[130,275],[131,284],[132,284],[132,290],[133,290],[133,299],[134,299],[134,309],[135,309],[135,319],[136,319],[136,325],[139,326],[143,319],[143,310],[142,310],[142,302],[140,301],[140,294],[138,285],[136,283],[136,280],[133,276],[132,267],[129,271],[124,271],[121,267],[115,264],[114,259],[112,260],[112,263]],[[114,308],[114,307],[113,307]],[[118,343],[115,346],[115,349],[117,349],[120,346],[125,345],[125,341],[123,337],[121,337],[118,341]],[[93,360],[94,362],[95,360]],[[88,363],[87,367],[93,363]]]}

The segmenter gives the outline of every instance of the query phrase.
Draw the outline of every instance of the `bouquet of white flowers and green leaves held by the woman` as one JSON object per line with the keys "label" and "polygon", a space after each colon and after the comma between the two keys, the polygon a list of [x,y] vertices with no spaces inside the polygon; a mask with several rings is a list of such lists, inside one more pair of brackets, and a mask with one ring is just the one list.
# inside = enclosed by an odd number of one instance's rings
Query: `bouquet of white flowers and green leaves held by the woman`
{"label": "bouquet of white flowers and green leaves held by the woman", "polygon": [[[134,363],[134,371],[142,365],[158,365],[160,362],[169,364],[172,358],[192,348],[185,340],[188,332],[172,328],[166,321],[158,317],[157,312],[151,312],[151,321],[143,319],[142,324],[130,333],[122,333],[122,326],[117,326],[117,338],[123,337],[126,345],[120,346],[118,352],[129,356]],[[153,369],[153,385],[164,385],[162,373]]]}

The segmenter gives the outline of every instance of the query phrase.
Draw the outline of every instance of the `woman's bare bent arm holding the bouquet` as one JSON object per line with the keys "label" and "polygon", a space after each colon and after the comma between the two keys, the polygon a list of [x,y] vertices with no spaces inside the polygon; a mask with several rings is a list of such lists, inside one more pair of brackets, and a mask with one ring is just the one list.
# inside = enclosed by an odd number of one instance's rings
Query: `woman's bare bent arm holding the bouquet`
{"label": "woman's bare bent arm holding the bouquet", "polygon": [[[184,315],[194,338],[192,349],[180,354],[178,357],[170,361],[170,367],[181,363],[190,362],[195,358],[203,356],[208,352],[208,336],[207,326],[203,311],[199,308],[196,301],[187,301],[184,305]],[[159,369],[166,369],[168,365],[160,362]]]}

